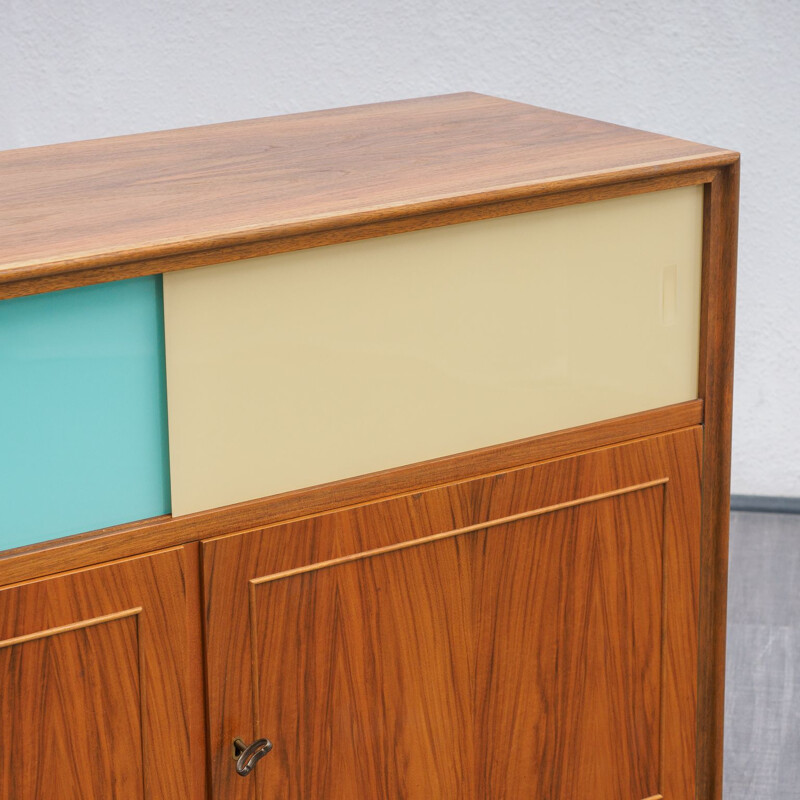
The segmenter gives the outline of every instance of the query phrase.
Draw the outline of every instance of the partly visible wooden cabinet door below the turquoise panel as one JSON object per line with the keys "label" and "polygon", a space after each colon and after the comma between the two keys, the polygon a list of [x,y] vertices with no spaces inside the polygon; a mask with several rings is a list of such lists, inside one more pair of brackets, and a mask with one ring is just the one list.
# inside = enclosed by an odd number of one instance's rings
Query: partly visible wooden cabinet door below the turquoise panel
{"label": "partly visible wooden cabinet door below the turquoise panel", "polygon": [[178,548],[0,590],[0,797],[194,796],[185,573]]}

